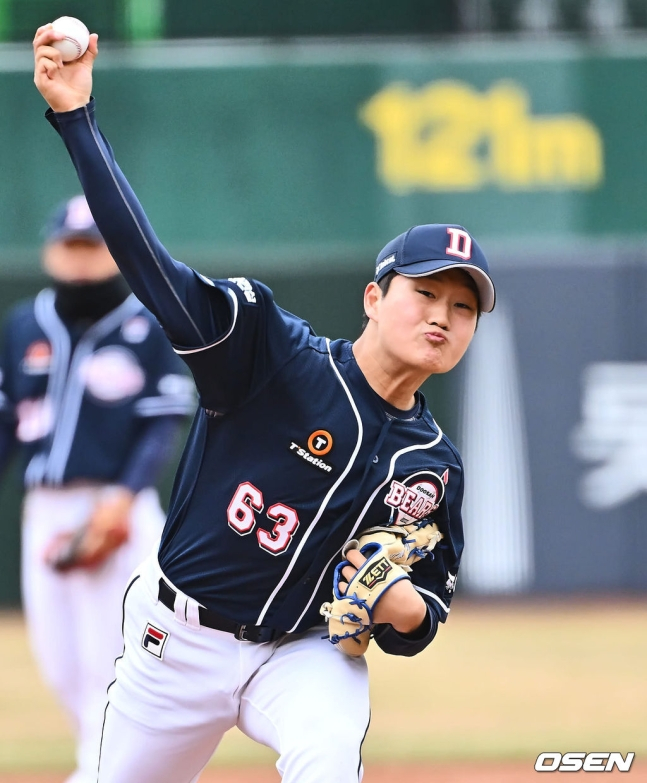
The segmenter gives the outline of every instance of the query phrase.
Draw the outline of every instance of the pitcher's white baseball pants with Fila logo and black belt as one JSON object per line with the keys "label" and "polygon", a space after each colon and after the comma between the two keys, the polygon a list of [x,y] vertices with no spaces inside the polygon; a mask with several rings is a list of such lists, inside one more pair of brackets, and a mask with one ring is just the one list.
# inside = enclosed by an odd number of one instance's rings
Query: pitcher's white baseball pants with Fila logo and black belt
{"label": "pitcher's white baseball pants with Fila logo and black belt", "polygon": [[99,783],[196,781],[233,726],[279,754],[284,783],[358,783],[364,659],[336,650],[323,628],[255,644],[201,627],[177,588],[175,612],[158,602],[160,576],[150,557],[126,593]]}

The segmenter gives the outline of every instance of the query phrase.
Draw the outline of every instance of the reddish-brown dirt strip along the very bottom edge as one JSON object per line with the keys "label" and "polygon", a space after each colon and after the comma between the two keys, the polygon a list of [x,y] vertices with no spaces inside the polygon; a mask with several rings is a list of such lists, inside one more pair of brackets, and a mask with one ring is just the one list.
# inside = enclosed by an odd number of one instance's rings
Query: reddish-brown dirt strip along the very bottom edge
{"label": "reddish-brown dirt strip along the very bottom edge", "polygon": [[[573,774],[573,773],[571,773]],[[584,775],[586,773],[575,773]],[[629,773],[618,770],[606,773],[609,777],[623,775],[627,783],[647,783],[647,763],[634,762]],[[471,762],[456,764],[425,764],[420,766],[371,766],[367,768],[363,783],[537,783],[538,772],[532,763]],[[2,783],[63,783],[61,775],[2,775]],[[570,776],[569,776],[570,779]],[[548,781],[554,780],[547,778]],[[271,769],[210,769],[200,778],[200,783],[280,783],[278,774]],[[334,781],[330,781],[334,783]]]}

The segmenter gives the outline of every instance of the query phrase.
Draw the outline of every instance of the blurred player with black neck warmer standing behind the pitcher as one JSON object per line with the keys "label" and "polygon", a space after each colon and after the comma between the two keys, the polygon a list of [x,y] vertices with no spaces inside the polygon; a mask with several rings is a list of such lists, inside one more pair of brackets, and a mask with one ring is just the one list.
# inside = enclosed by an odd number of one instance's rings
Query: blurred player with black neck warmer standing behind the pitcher
{"label": "blurred player with black neck warmer standing behind the pitcher", "polygon": [[155,484],[193,410],[193,385],[83,196],[52,216],[42,260],[51,286],[4,328],[0,470],[19,445],[30,640],[75,728],[69,781],[89,783],[122,650],[121,597],[161,533]]}

